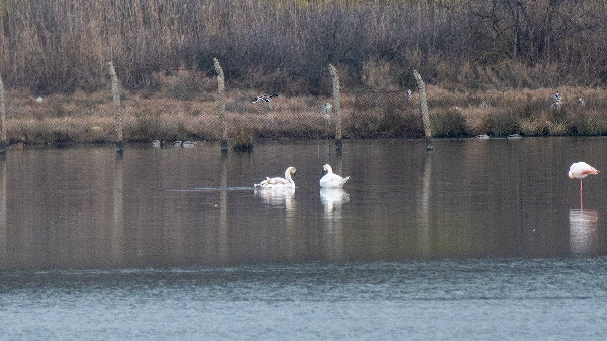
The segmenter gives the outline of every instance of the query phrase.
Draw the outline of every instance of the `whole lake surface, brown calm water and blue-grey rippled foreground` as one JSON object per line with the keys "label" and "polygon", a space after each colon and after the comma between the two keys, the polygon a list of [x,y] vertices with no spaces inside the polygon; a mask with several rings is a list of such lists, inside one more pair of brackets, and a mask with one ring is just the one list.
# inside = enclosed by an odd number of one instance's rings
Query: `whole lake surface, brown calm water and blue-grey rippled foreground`
{"label": "whole lake surface, brown calm water and blue-grey rippled foreground", "polygon": [[[607,138],[9,149],[0,339],[605,339]],[[321,190],[322,166],[350,176]],[[254,190],[297,168],[294,190]]]}

